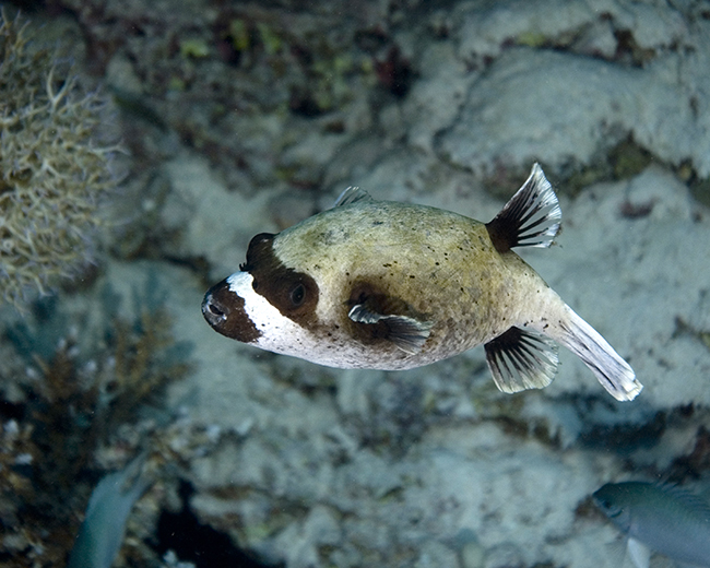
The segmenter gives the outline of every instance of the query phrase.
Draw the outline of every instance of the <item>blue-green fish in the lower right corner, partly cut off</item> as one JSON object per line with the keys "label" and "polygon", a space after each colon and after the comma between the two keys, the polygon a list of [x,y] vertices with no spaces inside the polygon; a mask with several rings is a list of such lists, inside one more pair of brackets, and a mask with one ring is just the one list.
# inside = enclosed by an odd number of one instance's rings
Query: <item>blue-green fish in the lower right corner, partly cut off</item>
{"label": "blue-green fish in the lower right corner, partly cut off", "polygon": [[677,563],[710,567],[710,507],[677,487],[643,482],[607,483],[594,504],[629,536],[637,568],[649,548]]}

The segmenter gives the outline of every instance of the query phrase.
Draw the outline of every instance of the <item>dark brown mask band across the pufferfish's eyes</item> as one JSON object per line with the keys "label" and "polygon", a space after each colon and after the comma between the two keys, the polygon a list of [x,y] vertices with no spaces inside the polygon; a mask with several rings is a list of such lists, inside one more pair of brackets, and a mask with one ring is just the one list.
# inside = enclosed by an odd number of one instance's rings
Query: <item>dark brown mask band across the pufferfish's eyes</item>
{"label": "dark brown mask band across the pufferfish's eyes", "polygon": [[240,270],[253,277],[251,287],[267,298],[282,316],[301,327],[315,322],[318,284],[305,272],[286,268],[273,251],[276,235],[261,233],[251,239],[247,262]]}

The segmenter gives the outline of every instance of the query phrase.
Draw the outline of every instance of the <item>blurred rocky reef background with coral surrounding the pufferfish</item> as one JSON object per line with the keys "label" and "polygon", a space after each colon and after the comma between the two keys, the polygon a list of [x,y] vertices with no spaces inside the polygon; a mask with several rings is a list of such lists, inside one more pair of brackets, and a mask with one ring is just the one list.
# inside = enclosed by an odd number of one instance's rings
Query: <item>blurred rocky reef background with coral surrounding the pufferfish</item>
{"label": "blurred rocky reef background with coral surrounding the pufferfish", "polygon": [[[0,566],[86,518],[71,566],[616,568],[601,486],[710,501],[707,1],[1,5]],[[338,370],[203,320],[347,186],[488,221],[536,161],[563,230],[521,256],[632,402],[564,350],[510,395],[481,347]]]}

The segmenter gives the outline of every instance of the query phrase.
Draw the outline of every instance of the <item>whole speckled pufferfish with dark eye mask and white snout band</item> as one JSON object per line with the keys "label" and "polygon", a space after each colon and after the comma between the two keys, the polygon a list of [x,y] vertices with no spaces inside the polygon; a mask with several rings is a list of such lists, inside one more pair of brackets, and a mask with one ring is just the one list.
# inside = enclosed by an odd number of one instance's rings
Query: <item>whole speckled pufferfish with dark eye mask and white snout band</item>
{"label": "whole speckled pufferfish with dark eye mask and white snout band", "polygon": [[348,188],[333,209],[253,237],[202,313],[227,338],[339,368],[411,369],[483,343],[508,393],[548,386],[561,344],[630,401],[642,389],[631,367],[512,251],[548,247],[560,220],[537,164],[485,224]]}

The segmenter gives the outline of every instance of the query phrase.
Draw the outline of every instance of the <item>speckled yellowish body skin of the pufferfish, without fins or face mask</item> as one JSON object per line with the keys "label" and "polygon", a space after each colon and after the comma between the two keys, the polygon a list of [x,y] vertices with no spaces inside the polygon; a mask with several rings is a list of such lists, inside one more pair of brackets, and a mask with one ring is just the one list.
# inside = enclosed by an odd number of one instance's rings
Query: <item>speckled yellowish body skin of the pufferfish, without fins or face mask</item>
{"label": "speckled yellowish body skin of the pufferfish, without fins or face mask", "polygon": [[[499,253],[483,223],[434,208],[366,201],[315,215],[280,235],[275,256],[312,276],[318,324],[303,350],[267,348],[344,368],[406,369],[531,326],[555,339],[567,306],[518,255]],[[367,282],[434,323],[421,353],[354,341],[351,291]],[[362,326],[362,324],[359,324]],[[264,345],[260,345],[264,346]]]}

